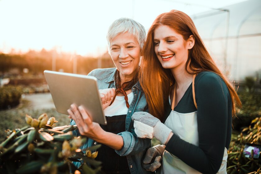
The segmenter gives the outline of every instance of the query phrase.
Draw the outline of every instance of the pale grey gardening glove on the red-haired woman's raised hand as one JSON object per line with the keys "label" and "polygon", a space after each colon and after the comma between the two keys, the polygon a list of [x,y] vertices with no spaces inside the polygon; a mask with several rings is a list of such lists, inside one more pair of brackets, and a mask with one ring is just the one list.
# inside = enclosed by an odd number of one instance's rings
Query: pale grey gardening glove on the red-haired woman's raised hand
{"label": "pale grey gardening glove on the red-haired woman's raised hand", "polygon": [[167,138],[172,132],[161,121],[147,112],[135,112],[131,119],[134,121],[134,131],[139,138],[157,138],[162,144],[166,144]]}

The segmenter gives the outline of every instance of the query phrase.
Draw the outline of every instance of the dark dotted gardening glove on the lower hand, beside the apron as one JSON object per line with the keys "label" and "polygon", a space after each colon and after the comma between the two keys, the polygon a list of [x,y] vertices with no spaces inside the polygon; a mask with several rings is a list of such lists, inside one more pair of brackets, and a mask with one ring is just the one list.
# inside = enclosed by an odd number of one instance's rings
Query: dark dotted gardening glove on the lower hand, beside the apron
{"label": "dark dotted gardening glove on the lower hand, beside the apron", "polygon": [[147,171],[154,172],[161,166],[162,155],[165,148],[163,145],[155,145],[149,148],[141,162],[141,165]]}

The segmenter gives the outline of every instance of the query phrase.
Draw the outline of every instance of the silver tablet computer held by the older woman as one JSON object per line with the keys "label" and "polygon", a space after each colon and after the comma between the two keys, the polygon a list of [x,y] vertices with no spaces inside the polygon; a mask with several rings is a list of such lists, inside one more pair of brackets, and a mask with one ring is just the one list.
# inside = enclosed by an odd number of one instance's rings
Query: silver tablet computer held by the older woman
{"label": "silver tablet computer held by the older woman", "polygon": [[93,122],[107,124],[95,77],[48,70],[43,73],[57,112],[68,115],[71,104],[82,105]]}

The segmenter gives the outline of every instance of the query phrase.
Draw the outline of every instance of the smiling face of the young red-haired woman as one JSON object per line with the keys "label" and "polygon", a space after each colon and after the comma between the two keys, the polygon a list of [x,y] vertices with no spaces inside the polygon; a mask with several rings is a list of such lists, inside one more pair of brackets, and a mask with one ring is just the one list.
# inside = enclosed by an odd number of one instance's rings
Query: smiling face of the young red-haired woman
{"label": "smiling face of the young red-haired woman", "polygon": [[154,31],[154,51],[165,69],[185,67],[188,59],[189,42],[167,25],[160,25]]}

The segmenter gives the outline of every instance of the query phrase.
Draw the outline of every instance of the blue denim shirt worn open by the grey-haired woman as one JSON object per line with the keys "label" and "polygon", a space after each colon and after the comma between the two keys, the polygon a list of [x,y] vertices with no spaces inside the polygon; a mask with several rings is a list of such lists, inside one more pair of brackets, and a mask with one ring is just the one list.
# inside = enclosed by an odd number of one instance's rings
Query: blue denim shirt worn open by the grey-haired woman
{"label": "blue denim shirt worn open by the grey-haired woman", "polygon": [[[117,72],[116,68],[106,68],[106,69],[94,69],[88,75],[94,76],[97,78],[97,84],[99,89],[115,88],[115,74]],[[133,100],[130,103],[125,121],[125,132],[118,133],[117,135],[122,136],[123,138],[123,148],[121,150],[115,150],[115,152],[120,156],[126,156],[129,169],[131,174],[140,174],[140,173],[152,173],[146,171],[141,166],[141,160],[144,156],[146,149],[151,146],[151,140],[148,138],[137,138],[133,121],[131,116],[134,112],[145,111],[148,112],[148,105],[146,102],[145,94],[140,86],[140,83],[137,82],[132,87]],[[71,125],[74,125],[74,120],[71,119]],[[73,132],[74,135],[79,136],[80,133],[78,130]],[[96,145],[97,142],[88,138],[87,141],[81,149],[86,149],[93,145]],[[76,167],[80,167],[79,162],[74,162]]]}

